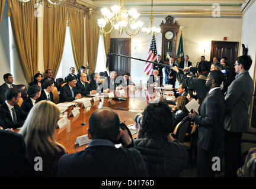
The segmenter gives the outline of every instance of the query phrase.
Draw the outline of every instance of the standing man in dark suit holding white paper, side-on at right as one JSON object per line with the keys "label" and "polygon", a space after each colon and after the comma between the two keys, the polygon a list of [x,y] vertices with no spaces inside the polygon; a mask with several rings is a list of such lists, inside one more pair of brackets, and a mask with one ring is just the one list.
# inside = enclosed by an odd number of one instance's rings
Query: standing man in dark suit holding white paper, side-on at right
{"label": "standing man in dark suit holding white paper, side-on at right", "polygon": [[210,87],[210,91],[199,106],[199,115],[194,110],[193,113],[189,114],[196,124],[199,125],[197,139],[198,177],[214,177],[215,173],[212,169],[214,162],[212,158],[217,157],[218,151],[223,145],[226,103],[220,90],[222,82],[223,74],[221,71],[210,71],[206,80],[206,85]]}

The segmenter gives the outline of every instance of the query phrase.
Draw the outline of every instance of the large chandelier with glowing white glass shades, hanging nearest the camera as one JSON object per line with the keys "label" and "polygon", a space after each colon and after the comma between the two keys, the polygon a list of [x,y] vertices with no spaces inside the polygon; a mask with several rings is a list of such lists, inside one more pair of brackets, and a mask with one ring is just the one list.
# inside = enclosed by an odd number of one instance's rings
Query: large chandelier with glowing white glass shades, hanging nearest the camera
{"label": "large chandelier with glowing white glass shades, hanging nearest the camera", "polygon": [[[123,31],[129,36],[135,37],[142,28],[143,22],[137,21],[139,13],[135,9],[127,11],[124,7],[125,0],[119,0],[119,5],[111,6],[111,11],[107,8],[101,9],[101,14],[104,15],[104,19],[98,19],[98,26],[101,32],[107,35],[113,28],[117,30],[118,35],[122,35]],[[105,31],[105,25],[110,24],[110,30]]]}

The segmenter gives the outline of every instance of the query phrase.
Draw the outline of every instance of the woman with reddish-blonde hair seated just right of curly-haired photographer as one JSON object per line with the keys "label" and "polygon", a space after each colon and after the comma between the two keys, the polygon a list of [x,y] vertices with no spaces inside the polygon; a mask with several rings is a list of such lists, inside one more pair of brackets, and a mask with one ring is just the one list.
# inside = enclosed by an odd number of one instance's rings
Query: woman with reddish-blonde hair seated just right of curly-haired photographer
{"label": "woman with reddish-blonde hair seated just right of curly-haired photographer", "polygon": [[185,96],[179,96],[176,100],[176,107],[172,109],[172,129],[171,132],[174,131],[175,126],[185,118],[185,116],[188,116],[188,110],[185,107],[187,105],[188,99]]}

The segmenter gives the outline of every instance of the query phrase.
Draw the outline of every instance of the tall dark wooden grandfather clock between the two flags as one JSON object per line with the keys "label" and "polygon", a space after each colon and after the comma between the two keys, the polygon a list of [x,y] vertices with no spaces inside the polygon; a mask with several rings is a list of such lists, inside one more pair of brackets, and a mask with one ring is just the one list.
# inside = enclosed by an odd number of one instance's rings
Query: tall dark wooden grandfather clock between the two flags
{"label": "tall dark wooden grandfather clock between the two flags", "polygon": [[180,25],[177,24],[177,21],[173,23],[173,17],[170,15],[165,18],[165,23],[162,21],[160,24],[162,32],[162,61],[164,63],[169,62],[170,57],[176,56],[176,43],[177,43],[177,34],[180,28]]}

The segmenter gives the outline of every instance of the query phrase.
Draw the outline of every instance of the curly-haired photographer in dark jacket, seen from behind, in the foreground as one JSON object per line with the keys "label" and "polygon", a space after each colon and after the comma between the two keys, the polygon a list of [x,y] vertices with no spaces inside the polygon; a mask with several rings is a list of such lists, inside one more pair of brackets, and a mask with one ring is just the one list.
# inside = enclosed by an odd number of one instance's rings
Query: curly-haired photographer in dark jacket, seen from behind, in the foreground
{"label": "curly-haired photographer in dark jacket, seen from behind, in the foreground", "polygon": [[150,103],[136,119],[140,125],[135,148],[145,159],[150,177],[180,177],[188,161],[187,149],[170,134],[172,113],[164,99]]}

